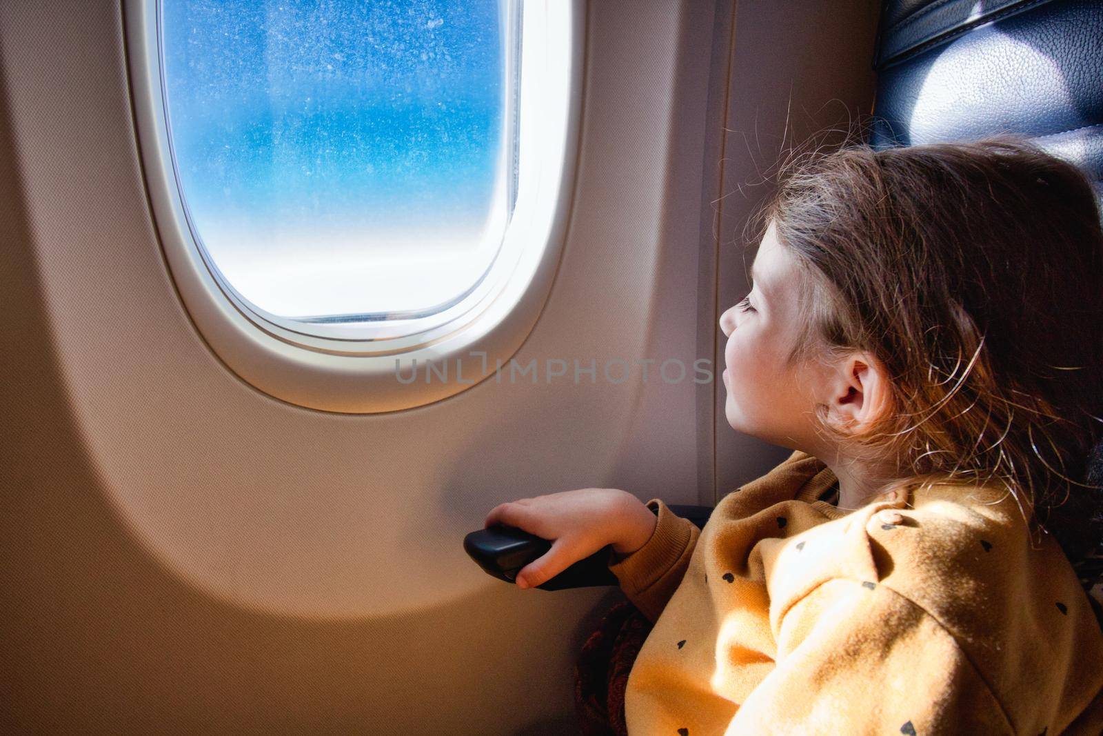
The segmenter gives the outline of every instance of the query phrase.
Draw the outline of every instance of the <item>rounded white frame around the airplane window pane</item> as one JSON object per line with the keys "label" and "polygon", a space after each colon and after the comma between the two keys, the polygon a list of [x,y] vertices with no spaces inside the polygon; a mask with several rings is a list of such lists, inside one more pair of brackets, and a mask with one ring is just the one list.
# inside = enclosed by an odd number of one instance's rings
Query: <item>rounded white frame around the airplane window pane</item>
{"label": "rounded white frame around the airplane window pane", "polygon": [[[259,310],[205,257],[193,236],[172,158],[160,1],[125,0],[142,169],[169,271],[207,344],[247,383],[314,409],[393,412],[446,398],[494,375],[496,361],[506,363],[527,338],[550,291],[574,191],[585,0],[523,2],[521,167],[499,256],[467,298],[427,324],[384,322],[364,339],[363,326],[296,322]],[[409,381],[415,360],[417,377]],[[462,361],[462,380],[452,375],[457,360]],[[449,364],[449,381],[430,376],[429,364]]]}

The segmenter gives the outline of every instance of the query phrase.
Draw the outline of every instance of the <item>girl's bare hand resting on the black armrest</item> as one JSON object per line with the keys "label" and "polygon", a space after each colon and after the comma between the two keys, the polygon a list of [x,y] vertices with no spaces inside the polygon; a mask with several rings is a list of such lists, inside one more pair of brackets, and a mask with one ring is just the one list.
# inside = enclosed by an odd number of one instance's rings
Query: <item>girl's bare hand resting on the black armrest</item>
{"label": "girl's bare hand resting on the black armrest", "polygon": [[483,527],[504,524],[548,540],[552,548],[517,572],[520,588],[550,580],[579,559],[611,544],[629,555],[651,538],[655,514],[628,491],[582,488],[494,506]]}

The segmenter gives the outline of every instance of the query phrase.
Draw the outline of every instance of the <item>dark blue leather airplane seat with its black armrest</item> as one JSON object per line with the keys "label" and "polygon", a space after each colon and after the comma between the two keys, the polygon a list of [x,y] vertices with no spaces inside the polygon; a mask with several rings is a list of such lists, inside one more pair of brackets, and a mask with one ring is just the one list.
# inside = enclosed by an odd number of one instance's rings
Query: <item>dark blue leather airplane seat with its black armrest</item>
{"label": "dark blue leather airplane seat with its black armrest", "polygon": [[[1103,209],[1103,3],[1094,0],[888,0],[878,23],[877,94],[869,142],[876,148],[1029,136],[1080,166]],[[1092,482],[1103,482],[1103,442]],[[711,506],[672,505],[704,527]],[[550,543],[492,527],[464,540],[491,575],[513,582]],[[537,586],[545,590],[617,585],[608,548]],[[1103,543],[1089,566],[1103,564]],[[1092,596],[1103,616],[1103,590]]]}

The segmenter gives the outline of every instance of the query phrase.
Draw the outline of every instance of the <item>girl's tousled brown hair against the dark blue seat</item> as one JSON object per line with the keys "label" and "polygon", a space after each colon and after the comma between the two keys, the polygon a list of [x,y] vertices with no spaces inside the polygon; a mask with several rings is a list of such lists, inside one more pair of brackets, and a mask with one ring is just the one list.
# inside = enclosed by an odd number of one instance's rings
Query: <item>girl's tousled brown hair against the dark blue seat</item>
{"label": "girl's tousled brown hair against the dark blue seat", "polygon": [[1013,493],[1092,585],[1103,232],[1084,174],[1011,136],[846,142],[784,161],[754,222],[770,221],[808,277],[794,358],[866,350],[892,378],[893,410],[846,439],[910,483]]}

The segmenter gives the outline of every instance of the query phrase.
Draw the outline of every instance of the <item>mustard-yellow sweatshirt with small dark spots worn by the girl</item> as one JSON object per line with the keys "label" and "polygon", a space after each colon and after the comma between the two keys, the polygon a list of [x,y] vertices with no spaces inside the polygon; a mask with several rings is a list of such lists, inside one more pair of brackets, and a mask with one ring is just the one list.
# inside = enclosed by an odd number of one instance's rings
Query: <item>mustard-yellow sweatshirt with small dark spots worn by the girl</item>
{"label": "mustard-yellow sweatshirt with small dark spots worn by the girl", "polygon": [[1103,632],[1014,498],[940,486],[846,511],[821,500],[835,483],[797,451],[704,530],[647,502],[652,537],[610,554],[655,623],[631,736],[1103,733]]}

